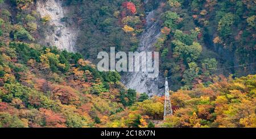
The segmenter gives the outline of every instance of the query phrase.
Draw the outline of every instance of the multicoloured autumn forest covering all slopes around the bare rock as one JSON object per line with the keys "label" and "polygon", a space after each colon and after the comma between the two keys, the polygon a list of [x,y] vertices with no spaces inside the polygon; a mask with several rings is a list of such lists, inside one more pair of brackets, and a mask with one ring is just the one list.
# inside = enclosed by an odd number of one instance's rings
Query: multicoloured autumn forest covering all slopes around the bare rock
{"label": "multicoloured autumn forest covering all slopes around the bare rock", "polygon": [[[43,42],[54,27],[37,1],[0,0],[0,127],[256,127],[255,1],[61,1],[61,22],[79,28],[76,52]],[[164,95],[96,67],[102,50],[140,47],[152,10],[160,73],[175,77],[164,120]]]}

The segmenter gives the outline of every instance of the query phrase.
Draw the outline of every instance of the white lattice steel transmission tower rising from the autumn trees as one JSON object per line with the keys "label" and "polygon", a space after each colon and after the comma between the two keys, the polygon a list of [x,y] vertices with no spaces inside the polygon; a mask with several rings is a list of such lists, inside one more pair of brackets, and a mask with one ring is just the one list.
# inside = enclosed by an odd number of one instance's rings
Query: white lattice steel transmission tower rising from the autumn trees
{"label": "white lattice steel transmission tower rising from the autumn trees", "polygon": [[166,116],[172,115],[172,105],[171,105],[171,100],[170,100],[167,78],[166,78],[166,92],[164,95],[165,95],[165,99],[164,99],[164,119],[165,119]]}

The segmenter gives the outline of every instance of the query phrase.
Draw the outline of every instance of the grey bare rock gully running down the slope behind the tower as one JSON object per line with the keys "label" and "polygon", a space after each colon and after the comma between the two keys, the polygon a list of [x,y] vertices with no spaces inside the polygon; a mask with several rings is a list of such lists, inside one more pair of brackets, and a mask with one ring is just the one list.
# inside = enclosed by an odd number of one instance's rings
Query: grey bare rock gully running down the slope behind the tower
{"label": "grey bare rock gully running down the slope behind the tower", "polygon": [[[160,36],[160,25],[157,21],[152,20],[156,16],[155,11],[147,14],[146,30],[140,39],[139,52],[151,52],[156,40]],[[142,71],[127,73],[127,75],[123,76],[122,82],[127,88],[135,89],[141,93],[146,92],[149,96],[163,94],[163,80],[159,80],[162,77],[159,75],[158,78],[148,78],[147,74],[147,72]]]}

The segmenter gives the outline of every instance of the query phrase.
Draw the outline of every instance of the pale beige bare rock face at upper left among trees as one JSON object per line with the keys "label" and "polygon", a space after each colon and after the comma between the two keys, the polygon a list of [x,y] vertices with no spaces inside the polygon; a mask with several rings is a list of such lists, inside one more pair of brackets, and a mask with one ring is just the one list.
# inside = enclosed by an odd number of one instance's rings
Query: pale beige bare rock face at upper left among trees
{"label": "pale beige bare rock face at upper left among trees", "polygon": [[36,10],[42,17],[49,16],[49,24],[54,27],[53,31],[46,32],[46,41],[49,45],[59,49],[75,52],[77,29],[67,26],[61,19],[65,18],[65,10],[60,0],[40,0],[36,2]]}

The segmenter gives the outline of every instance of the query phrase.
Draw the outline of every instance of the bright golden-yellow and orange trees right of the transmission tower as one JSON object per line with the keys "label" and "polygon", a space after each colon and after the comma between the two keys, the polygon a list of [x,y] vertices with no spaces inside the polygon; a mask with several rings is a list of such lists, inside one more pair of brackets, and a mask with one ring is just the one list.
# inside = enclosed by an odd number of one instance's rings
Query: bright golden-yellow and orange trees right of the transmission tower
{"label": "bright golden-yellow and orange trees right of the transmission tower", "polygon": [[221,77],[209,87],[172,92],[172,104],[178,108],[162,126],[255,127],[255,79]]}

